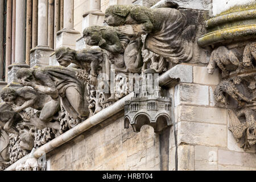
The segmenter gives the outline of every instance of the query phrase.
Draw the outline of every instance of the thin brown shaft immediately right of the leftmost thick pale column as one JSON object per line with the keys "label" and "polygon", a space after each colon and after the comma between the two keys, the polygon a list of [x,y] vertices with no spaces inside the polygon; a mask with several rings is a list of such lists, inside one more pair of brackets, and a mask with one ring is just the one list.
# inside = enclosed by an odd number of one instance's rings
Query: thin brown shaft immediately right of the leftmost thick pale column
{"label": "thin brown shaft immediately right of the leftmost thick pale column", "polygon": [[26,64],[30,65],[30,50],[32,48],[32,0],[27,0],[26,23]]}

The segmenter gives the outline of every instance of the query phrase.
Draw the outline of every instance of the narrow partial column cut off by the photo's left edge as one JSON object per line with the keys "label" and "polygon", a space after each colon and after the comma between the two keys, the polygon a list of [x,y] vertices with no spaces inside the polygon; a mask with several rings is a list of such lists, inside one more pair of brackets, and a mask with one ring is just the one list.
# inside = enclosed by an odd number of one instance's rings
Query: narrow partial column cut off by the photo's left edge
{"label": "narrow partial column cut off by the photo's left edge", "polygon": [[[3,1],[0,3],[0,22],[3,22]],[[3,27],[0,28],[0,90],[6,86],[3,81]],[[0,100],[1,102],[1,100]]]}

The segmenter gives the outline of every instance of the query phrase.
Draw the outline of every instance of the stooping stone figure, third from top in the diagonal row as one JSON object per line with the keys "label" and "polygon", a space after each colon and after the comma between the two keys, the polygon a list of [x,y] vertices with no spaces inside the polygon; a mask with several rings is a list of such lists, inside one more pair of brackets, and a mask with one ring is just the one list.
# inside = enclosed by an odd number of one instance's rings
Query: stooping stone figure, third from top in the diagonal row
{"label": "stooping stone figure, third from top in the diagonal row", "polygon": [[71,48],[61,47],[55,51],[56,59],[63,67],[76,64],[89,74],[89,84],[96,85],[98,70],[104,59],[101,49],[83,49],[75,51]]}

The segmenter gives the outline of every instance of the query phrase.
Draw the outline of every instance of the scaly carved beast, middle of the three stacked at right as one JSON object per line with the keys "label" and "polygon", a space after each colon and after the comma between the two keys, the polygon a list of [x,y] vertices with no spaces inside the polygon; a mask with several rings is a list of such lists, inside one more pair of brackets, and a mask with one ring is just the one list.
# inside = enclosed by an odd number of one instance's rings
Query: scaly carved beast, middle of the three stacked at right
{"label": "scaly carved beast, middle of the three stacked at right", "polygon": [[242,101],[250,103],[252,100],[245,97],[236,87],[234,82],[231,80],[224,80],[221,81],[220,84],[217,85],[216,89],[214,90],[214,98],[217,102],[229,105],[228,100],[226,99],[227,96],[231,96],[234,100],[238,102],[238,105],[242,105]]}

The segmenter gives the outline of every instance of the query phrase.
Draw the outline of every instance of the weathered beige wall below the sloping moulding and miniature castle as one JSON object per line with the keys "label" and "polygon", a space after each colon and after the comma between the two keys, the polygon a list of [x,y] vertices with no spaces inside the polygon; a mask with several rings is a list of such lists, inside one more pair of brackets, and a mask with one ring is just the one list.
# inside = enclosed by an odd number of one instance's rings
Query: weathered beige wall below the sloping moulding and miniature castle
{"label": "weathered beige wall below the sloping moulding and miniature castle", "polygon": [[51,170],[160,170],[159,135],[150,126],[134,133],[124,129],[123,116],[110,118],[52,151],[47,160]]}

